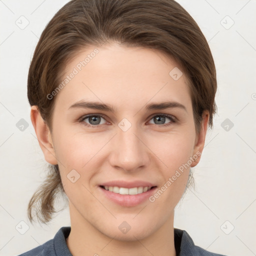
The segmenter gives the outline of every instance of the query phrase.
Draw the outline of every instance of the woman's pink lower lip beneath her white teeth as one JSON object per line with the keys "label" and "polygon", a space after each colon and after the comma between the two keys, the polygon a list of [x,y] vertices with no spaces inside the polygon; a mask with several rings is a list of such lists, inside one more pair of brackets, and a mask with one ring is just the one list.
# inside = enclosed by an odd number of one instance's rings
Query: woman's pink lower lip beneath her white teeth
{"label": "woman's pink lower lip beneath her white teeth", "polygon": [[104,189],[103,187],[100,187],[100,190],[104,193],[104,195],[110,199],[111,201],[121,205],[121,206],[135,206],[146,199],[148,199],[149,196],[151,196],[155,189],[157,188],[156,186],[151,188],[150,190],[146,192],[142,192],[139,194],[119,194],[119,193],[114,193],[109,190]]}

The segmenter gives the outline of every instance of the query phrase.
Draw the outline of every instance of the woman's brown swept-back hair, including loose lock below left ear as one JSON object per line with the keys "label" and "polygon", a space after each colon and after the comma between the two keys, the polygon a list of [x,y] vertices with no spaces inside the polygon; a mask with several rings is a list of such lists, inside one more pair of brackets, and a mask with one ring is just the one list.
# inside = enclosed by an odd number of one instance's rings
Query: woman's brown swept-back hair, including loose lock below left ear
{"label": "woman's brown swept-back hair, including loose lock below left ear", "polygon": [[[216,71],[208,43],[188,12],[174,0],[71,0],[44,28],[30,63],[27,96],[52,130],[54,97],[65,65],[81,49],[118,42],[160,50],[173,58],[189,80],[196,134],[203,110],[209,111],[209,127],[216,112]],[[28,217],[46,223],[54,212],[57,192],[64,192],[54,165],[28,204]]]}

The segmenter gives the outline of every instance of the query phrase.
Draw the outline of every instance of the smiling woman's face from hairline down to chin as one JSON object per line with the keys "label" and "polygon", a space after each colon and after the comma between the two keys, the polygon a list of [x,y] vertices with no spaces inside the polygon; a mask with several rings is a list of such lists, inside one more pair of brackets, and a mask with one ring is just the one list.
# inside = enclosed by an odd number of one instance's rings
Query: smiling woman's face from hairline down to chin
{"label": "smiling woman's face from hairline down to chin", "polygon": [[59,166],[71,223],[134,240],[173,219],[205,136],[205,129],[196,136],[180,70],[160,51],[114,43],[88,47],[68,63],[63,80],[70,79],[54,95],[56,158],[45,159]]}

